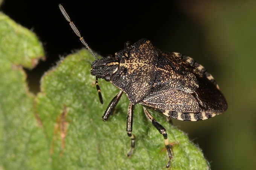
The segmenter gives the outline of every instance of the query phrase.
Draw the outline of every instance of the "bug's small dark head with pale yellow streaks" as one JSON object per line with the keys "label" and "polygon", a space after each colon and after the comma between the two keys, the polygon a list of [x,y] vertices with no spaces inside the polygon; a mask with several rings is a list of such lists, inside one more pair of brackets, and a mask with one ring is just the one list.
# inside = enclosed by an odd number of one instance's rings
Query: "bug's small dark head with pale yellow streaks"
{"label": "bug's small dark head with pale yellow streaks", "polygon": [[109,55],[91,63],[91,75],[95,75],[98,78],[104,78],[106,81],[110,81],[112,75],[117,71],[118,67],[119,61]]}

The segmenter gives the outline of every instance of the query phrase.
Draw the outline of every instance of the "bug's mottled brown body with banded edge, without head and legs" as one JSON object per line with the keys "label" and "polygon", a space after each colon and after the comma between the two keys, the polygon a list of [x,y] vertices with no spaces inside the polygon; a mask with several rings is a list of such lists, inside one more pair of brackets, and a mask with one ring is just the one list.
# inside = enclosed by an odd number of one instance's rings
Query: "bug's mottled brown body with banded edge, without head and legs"
{"label": "bug's mottled brown body with banded edge, without head and legs", "polygon": [[125,92],[131,104],[192,121],[227,109],[213,77],[190,57],[158,50],[141,39],[116,53],[115,58],[119,68],[110,82]]}

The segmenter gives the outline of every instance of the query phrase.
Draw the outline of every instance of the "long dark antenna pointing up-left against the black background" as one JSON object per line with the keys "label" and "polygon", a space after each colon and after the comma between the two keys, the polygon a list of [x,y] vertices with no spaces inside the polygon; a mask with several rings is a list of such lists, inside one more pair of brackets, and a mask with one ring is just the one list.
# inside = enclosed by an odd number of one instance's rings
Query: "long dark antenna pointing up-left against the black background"
{"label": "long dark antenna pointing up-left against the black background", "polygon": [[93,53],[93,50],[91,50],[91,48],[88,46],[88,44],[84,41],[84,38],[82,38],[81,34],[79,33],[78,29],[76,28],[75,24],[70,20],[69,15],[67,15],[67,12],[65,11],[65,9],[63,8],[62,5],[59,4],[59,9],[61,10],[62,14],[64,15],[64,17],[66,18],[66,20],[69,22],[69,25],[71,26],[71,28],[73,29],[73,31],[76,33],[76,35],[79,37],[80,41],[82,42],[82,44],[84,44],[84,46],[90,51],[91,54],[93,54],[93,57],[98,60],[98,58],[96,57],[96,55]]}

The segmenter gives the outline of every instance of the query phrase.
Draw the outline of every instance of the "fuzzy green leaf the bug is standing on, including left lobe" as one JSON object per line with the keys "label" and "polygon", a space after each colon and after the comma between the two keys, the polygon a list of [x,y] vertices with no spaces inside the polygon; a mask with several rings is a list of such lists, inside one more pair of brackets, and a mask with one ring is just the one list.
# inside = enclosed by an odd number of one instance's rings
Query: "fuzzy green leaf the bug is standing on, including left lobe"
{"label": "fuzzy green leaf the bug is standing on, including left lobe", "polygon": [[[141,105],[134,107],[136,147],[131,158],[126,156],[131,140],[125,131],[125,95],[110,119],[102,121],[119,90],[99,80],[104,98],[100,104],[95,77],[90,75],[93,56],[87,50],[61,59],[44,74],[41,92],[31,95],[20,65],[32,67],[43,56],[41,45],[34,34],[1,17],[0,169],[166,169],[163,136],[146,119]],[[166,128],[173,145],[171,170],[209,168],[184,132],[164,116],[151,114]]]}

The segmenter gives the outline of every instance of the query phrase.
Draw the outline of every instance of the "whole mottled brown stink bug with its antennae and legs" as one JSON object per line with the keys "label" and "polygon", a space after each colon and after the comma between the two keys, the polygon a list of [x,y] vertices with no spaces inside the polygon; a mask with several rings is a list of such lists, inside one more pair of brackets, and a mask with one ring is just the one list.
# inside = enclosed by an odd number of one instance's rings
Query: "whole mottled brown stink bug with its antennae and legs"
{"label": "whole mottled brown stink bug with its antennae and legs", "polygon": [[130,104],[126,132],[131,138],[131,155],[135,146],[133,130],[133,105],[141,104],[152,125],[163,135],[168,153],[168,168],[172,152],[166,129],[148,112],[148,108],[178,120],[198,121],[209,119],[227,109],[227,102],[219,91],[212,75],[192,58],[180,53],[169,53],[155,48],[150,41],[141,39],[125,48],[115,56],[98,59],[70,20],[64,8],[62,14],[73,31],[96,59],[91,64],[91,75],[96,76],[96,87],[102,101],[98,78],[109,81],[120,92],[112,99],[102,116],[104,121],[116,107],[124,92]]}

